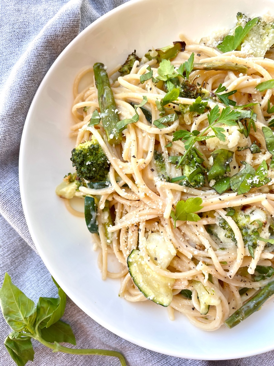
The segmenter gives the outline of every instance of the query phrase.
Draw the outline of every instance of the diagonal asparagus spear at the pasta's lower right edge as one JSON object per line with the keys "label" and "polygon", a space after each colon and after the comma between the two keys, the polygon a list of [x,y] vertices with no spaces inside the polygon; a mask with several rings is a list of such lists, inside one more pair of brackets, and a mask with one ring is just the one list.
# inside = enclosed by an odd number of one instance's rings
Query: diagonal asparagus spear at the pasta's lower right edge
{"label": "diagonal asparagus spear at the pasta's lower right edge", "polygon": [[236,310],[235,313],[230,315],[227,320],[225,320],[225,325],[228,328],[233,328],[233,326],[239,324],[241,321],[245,320],[249,315],[253,314],[259,307],[274,294],[274,281],[269,282],[266,286],[258,292],[253,298],[249,299],[240,309]]}

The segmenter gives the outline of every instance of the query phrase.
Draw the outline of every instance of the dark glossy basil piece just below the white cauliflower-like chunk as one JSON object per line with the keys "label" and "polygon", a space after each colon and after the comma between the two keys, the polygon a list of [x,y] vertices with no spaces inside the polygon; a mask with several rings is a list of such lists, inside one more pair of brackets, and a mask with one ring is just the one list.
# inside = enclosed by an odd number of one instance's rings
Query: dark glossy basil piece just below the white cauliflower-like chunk
{"label": "dark glossy basil piece just below the white cauliflower-like chunk", "polygon": [[211,154],[213,157],[213,165],[208,172],[208,181],[221,178],[226,172],[230,172],[229,163],[233,159],[233,151],[226,149],[218,149]]}

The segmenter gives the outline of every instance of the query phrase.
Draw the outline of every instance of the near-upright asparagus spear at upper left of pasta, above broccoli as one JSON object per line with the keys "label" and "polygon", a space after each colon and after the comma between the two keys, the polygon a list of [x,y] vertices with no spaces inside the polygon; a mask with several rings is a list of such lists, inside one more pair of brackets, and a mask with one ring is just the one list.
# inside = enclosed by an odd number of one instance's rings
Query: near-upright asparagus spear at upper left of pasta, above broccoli
{"label": "near-upright asparagus spear at upper left of pasta, above broccoli", "polygon": [[118,145],[122,141],[122,134],[116,124],[119,122],[118,110],[115,104],[113,92],[110,87],[109,77],[104,64],[97,62],[93,66],[95,85],[98,89],[98,102],[101,118],[106,131],[107,140],[111,145]]}

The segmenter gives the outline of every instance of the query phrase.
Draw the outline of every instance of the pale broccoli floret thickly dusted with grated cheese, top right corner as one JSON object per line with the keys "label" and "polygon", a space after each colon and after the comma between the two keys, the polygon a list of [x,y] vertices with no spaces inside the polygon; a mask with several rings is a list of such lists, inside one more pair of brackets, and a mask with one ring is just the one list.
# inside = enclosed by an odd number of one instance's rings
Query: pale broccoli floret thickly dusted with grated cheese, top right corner
{"label": "pale broccoli floret thickly dusted with grated cheese, top right corner", "polygon": [[241,51],[254,57],[265,56],[274,44],[274,23],[259,19],[241,44]]}

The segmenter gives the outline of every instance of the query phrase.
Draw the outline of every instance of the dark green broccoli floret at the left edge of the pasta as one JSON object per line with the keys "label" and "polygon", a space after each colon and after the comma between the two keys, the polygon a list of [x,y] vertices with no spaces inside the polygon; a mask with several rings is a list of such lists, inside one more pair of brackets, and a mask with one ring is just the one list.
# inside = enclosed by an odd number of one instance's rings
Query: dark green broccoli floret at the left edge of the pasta
{"label": "dark green broccoli floret at the left edge of the pasta", "polygon": [[80,143],[71,154],[72,166],[79,178],[91,182],[107,180],[110,163],[96,139]]}

